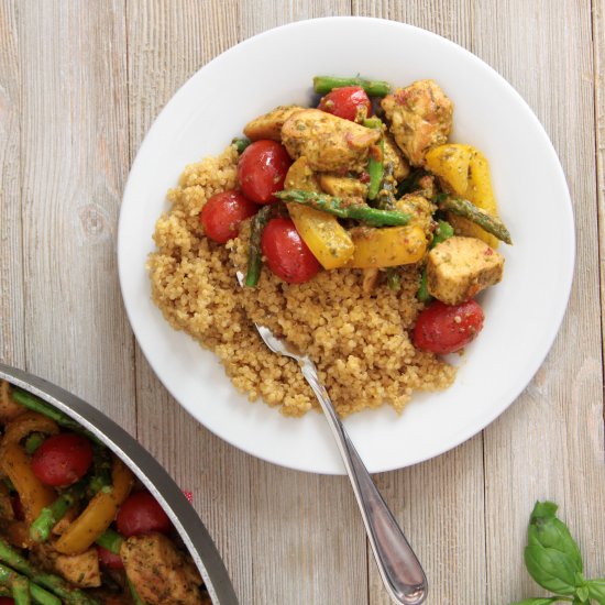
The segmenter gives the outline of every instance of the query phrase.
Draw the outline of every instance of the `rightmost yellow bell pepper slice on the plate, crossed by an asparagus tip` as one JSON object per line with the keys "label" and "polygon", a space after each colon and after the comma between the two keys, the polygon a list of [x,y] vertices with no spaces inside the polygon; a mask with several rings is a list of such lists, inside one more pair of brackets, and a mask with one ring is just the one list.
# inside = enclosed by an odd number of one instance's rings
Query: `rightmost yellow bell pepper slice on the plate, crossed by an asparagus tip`
{"label": "rightmost yellow bell pepper slice on the plate, crossed by an asparagus tip", "polygon": [[[475,147],[458,143],[439,145],[427,153],[426,166],[453,194],[472,201],[477,208],[494,217],[498,216],[490,164]],[[457,233],[479,238],[492,248],[498,246],[498,240],[477,224],[451,213],[448,220]]]}

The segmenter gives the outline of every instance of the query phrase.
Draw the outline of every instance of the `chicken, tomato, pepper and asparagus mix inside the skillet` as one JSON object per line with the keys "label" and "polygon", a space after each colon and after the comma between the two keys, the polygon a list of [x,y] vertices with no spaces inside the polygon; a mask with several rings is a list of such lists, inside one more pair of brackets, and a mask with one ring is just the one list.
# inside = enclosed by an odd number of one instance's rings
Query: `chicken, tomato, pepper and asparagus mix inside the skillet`
{"label": "chicken, tomato, pepper and asparagus mix inside the skillet", "polygon": [[6,381],[0,422],[0,594],[15,605],[210,603],[166,513],[94,435]]}

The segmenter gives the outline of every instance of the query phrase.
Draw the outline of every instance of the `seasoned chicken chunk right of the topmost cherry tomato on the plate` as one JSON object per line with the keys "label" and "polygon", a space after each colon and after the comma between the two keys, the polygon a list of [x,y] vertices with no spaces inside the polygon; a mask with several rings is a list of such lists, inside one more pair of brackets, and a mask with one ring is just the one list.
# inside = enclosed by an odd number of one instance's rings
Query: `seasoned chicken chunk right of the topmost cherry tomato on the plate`
{"label": "seasoned chicken chunk right of the topmost cherry tomato on the plate", "polygon": [[422,166],[426,153],[448,141],[453,103],[433,80],[397,88],[381,105],[395,142],[413,166]]}

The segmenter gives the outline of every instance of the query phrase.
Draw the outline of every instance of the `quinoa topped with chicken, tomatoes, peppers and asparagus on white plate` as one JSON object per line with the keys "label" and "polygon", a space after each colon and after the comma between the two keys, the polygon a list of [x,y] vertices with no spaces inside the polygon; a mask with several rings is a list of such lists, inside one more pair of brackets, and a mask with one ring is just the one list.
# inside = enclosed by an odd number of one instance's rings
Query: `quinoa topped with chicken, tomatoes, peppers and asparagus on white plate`
{"label": "quinoa topped with chicken, tomatoes, peppers and asparagus on white plate", "polygon": [[185,168],[156,223],[152,296],[252,400],[317,407],[256,322],[309,354],[341,416],[402,411],[454,380],[441,355],[481,331],[475,296],[502,279],[510,235],[486,158],[448,140],[453,103],[437,82],[314,85],[316,107],[279,106]]}

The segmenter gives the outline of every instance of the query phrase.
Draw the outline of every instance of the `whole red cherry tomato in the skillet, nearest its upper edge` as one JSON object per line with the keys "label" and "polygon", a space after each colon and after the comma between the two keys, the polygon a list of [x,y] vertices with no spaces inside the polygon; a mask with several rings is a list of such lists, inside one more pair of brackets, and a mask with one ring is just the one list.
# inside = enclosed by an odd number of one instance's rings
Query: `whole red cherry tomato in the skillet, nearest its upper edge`
{"label": "whole red cherry tomato in the skillet, nearest its upper edge", "polygon": [[32,471],[46,485],[65,487],[80,480],[92,463],[92,446],[82,435],[48,437],[32,455]]}

